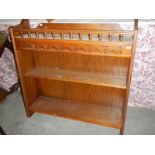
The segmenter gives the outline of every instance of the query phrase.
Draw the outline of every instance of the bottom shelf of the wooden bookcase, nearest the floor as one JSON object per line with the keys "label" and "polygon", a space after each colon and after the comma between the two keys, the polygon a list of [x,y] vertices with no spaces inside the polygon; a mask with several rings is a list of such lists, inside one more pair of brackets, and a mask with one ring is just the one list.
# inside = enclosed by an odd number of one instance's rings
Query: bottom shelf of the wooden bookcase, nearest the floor
{"label": "bottom shelf of the wooden bookcase, nearest the floor", "polygon": [[40,96],[31,105],[33,112],[61,116],[103,126],[121,128],[120,108]]}

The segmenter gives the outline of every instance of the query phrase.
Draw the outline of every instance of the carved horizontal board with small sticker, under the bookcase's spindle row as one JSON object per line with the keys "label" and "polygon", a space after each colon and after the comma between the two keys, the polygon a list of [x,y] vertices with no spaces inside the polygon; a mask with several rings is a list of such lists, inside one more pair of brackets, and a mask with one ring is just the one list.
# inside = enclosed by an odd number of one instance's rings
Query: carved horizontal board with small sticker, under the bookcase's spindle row
{"label": "carved horizontal board with small sticker, under the bookcase's spindle row", "polygon": [[89,55],[131,57],[131,43],[110,43],[78,40],[16,39],[18,50],[74,52]]}

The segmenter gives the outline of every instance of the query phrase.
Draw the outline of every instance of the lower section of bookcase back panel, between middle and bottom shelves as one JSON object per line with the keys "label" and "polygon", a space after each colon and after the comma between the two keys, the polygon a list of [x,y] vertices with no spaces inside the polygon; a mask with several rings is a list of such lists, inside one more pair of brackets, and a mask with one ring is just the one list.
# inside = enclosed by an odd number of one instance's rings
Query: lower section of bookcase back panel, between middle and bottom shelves
{"label": "lower section of bookcase back panel, between middle and bottom shelves", "polygon": [[124,89],[47,79],[38,79],[38,88],[43,96],[118,108],[123,106],[126,92]]}

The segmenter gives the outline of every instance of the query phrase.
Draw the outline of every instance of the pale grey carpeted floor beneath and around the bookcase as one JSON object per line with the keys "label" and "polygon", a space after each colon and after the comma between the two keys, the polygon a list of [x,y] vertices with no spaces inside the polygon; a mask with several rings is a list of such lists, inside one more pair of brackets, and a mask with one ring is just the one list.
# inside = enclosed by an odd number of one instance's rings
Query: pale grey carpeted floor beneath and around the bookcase
{"label": "pale grey carpeted floor beneath and around the bookcase", "polygon": [[[119,130],[60,117],[34,114],[27,118],[19,91],[0,104],[0,126],[9,135],[117,135]],[[155,111],[129,107],[125,134],[155,134]]]}

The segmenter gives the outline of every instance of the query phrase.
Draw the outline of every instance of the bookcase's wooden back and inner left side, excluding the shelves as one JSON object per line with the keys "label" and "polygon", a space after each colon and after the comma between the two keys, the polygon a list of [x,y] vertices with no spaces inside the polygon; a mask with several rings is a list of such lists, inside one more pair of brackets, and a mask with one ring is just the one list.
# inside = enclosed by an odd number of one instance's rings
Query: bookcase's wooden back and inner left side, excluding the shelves
{"label": "bookcase's wooden back and inner left side, excluding the shelves", "polygon": [[[58,97],[85,103],[103,104],[121,108],[125,99],[125,89],[111,88],[74,82],[48,80],[46,78],[26,78],[25,74],[36,67],[63,68],[78,71],[104,72],[127,78],[129,59],[98,55],[83,55],[64,52],[17,50],[25,93],[29,103],[39,96]],[[49,59],[50,58],[50,59]],[[33,93],[30,90],[33,89]],[[32,96],[32,97],[31,97]]]}

